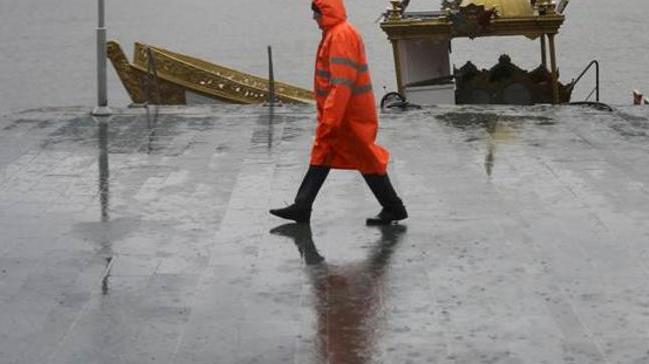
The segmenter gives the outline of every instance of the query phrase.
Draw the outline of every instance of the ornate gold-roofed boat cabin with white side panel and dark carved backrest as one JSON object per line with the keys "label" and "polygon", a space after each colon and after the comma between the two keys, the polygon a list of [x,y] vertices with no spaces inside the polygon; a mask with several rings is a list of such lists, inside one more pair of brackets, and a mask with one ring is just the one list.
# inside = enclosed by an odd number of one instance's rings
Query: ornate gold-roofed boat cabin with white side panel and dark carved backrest
{"label": "ornate gold-roofed boat cabin with white side panel and dark carved backrest", "polygon": [[[559,82],[555,36],[567,0],[444,0],[441,9],[406,12],[391,0],[381,28],[392,43],[399,94],[431,104],[536,104],[570,101],[574,81]],[[534,4],[534,5],[532,5]],[[540,39],[541,65],[523,70],[502,55],[491,69],[471,62],[451,69],[454,38],[525,36]],[[549,51],[549,62],[547,52]],[[387,95],[386,95],[387,96]]]}

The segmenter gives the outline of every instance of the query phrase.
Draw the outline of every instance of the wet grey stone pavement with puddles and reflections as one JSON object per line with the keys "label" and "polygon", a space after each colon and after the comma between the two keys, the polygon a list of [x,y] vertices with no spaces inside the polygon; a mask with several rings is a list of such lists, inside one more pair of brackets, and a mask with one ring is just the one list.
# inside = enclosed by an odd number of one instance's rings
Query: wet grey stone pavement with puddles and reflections
{"label": "wet grey stone pavement with puddles and reflections", "polygon": [[87,111],[0,121],[0,363],[649,362],[647,108],[383,114],[383,228],[267,213],[311,107]]}

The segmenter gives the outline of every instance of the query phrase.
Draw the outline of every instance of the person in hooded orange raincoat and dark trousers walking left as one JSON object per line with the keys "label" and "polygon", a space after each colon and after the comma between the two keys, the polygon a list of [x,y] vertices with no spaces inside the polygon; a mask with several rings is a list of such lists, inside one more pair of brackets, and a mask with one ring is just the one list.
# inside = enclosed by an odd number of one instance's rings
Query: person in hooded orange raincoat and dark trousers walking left
{"label": "person in hooded orange raincoat and dark trousers walking left", "polygon": [[313,18],[322,29],[315,67],[318,124],[309,170],[295,202],[270,213],[309,222],[311,206],[329,170],[361,172],[383,209],[367,224],[389,224],[408,217],[386,169],[389,152],[375,143],[376,103],[363,40],[347,22],[342,0],[314,0]]}

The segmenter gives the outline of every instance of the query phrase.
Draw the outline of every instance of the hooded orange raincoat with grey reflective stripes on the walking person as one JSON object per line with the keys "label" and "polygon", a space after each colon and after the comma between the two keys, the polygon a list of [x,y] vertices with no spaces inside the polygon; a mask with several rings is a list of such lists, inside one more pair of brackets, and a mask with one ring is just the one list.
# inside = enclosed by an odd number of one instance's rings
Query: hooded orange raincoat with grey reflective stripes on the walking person
{"label": "hooded orange raincoat with grey reflective stripes on the walking person", "polygon": [[378,117],[365,47],[342,0],[313,0],[322,13],[315,64],[318,124],[312,165],[386,173],[390,153],[377,145]]}

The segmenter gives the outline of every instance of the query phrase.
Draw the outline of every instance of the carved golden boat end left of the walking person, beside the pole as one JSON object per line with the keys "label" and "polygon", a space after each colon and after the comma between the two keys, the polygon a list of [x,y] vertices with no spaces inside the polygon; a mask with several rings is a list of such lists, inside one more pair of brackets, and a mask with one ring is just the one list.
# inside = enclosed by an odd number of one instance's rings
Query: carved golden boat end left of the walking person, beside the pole
{"label": "carved golden boat end left of the walking person, beside the pole", "polygon": [[[134,103],[184,105],[257,104],[268,101],[268,79],[147,44],[135,43],[129,63],[119,43],[107,42],[108,58]],[[274,82],[275,100],[313,103],[309,90]]]}

